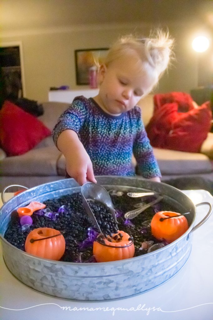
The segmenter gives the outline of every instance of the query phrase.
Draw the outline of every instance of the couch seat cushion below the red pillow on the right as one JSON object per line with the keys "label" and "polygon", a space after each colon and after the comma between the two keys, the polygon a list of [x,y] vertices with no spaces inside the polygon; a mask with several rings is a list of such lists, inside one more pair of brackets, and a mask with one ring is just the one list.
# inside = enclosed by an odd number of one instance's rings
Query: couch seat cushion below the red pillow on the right
{"label": "couch seat cushion below the red pillow on the right", "polygon": [[201,153],[153,148],[162,175],[212,172],[209,158]]}

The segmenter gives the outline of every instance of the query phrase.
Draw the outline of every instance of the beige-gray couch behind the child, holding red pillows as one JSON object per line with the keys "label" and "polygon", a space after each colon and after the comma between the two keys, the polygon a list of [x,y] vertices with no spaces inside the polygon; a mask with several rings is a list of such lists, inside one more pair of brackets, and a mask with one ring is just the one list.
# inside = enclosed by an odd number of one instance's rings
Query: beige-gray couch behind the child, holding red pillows
{"label": "beige-gray couch behind the child, holding red pillows", "polygon": [[[153,96],[140,101],[142,118],[146,125],[153,112]],[[43,103],[44,115],[39,119],[52,130],[68,103]],[[202,145],[202,153],[189,153],[154,148],[154,154],[164,180],[179,177],[203,177],[213,181],[213,133]],[[1,154],[0,154],[1,159]],[[133,159],[134,161],[134,159]],[[34,149],[21,156],[4,157],[0,160],[1,190],[11,184],[33,187],[65,177],[65,158],[55,147],[52,138],[42,140]],[[1,191],[0,190],[0,191]]]}

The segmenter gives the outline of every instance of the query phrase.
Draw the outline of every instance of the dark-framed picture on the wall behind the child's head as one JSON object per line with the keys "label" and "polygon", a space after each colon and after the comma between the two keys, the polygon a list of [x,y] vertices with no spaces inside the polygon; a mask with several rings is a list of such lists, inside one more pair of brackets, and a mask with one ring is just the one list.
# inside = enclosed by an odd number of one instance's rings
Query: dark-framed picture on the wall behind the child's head
{"label": "dark-framed picture on the wall behind the child's head", "polygon": [[108,48],[75,50],[76,84],[89,84],[89,68],[95,65],[95,60],[101,64]]}

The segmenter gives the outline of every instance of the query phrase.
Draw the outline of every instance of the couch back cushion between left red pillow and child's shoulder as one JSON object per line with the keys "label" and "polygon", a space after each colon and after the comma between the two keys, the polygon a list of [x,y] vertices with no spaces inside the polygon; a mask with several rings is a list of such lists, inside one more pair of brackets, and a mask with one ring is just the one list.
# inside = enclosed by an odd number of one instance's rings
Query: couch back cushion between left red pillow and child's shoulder
{"label": "couch back cushion between left red pillow and child's shoulder", "polygon": [[69,108],[70,104],[64,102],[44,102],[42,106],[44,108],[44,114],[38,119],[52,131],[57,124],[58,118]]}

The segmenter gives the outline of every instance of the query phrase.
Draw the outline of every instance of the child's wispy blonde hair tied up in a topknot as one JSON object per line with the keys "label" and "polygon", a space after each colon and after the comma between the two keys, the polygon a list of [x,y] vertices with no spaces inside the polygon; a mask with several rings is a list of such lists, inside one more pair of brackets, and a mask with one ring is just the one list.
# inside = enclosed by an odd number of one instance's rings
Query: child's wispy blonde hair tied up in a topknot
{"label": "child's wispy blonde hair tied up in a topknot", "polygon": [[[161,29],[156,30],[148,38],[138,38],[133,35],[122,36],[108,51],[103,61],[108,67],[110,63],[132,50],[136,51],[143,63],[143,70],[150,73],[150,67],[154,71],[153,86],[158,83],[169,62],[174,59],[172,51],[174,40],[169,32]],[[96,62],[97,67],[100,65]]]}

